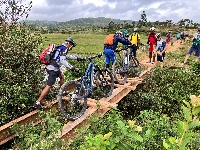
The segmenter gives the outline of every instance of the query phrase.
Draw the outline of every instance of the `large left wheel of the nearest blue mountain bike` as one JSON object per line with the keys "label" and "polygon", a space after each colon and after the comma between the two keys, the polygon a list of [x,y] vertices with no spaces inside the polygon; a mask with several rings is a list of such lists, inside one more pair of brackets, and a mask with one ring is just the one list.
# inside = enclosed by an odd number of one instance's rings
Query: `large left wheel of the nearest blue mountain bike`
{"label": "large left wheel of the nearest blue mountain bike", "polygon": [[87,108],[85,88],[78,81],[64,83],[58,93],[58,105],[62,115],[69,120],[80,118]]}

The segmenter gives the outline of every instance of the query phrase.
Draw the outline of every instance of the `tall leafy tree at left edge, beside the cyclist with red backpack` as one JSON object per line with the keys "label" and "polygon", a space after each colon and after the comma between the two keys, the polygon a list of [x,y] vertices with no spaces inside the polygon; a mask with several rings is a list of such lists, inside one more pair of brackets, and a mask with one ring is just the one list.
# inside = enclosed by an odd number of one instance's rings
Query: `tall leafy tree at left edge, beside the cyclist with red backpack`
{"label": "tall leafy tree at left edge, beside the cyclist with red backpack", "polygon": [[20,18],[27,18],[31,3],[3,0],[0,10],[0,125],[27,112],[40,90],[41,65],[37,57],[40,36]]}

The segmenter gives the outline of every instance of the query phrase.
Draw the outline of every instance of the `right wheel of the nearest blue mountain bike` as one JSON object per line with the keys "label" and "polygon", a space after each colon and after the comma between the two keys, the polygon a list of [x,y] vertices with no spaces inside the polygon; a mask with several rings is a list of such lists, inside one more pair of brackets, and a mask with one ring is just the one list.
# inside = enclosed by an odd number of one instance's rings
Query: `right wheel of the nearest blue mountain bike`
{"label": "right wheel of the nearest blue mountain bike", "polygon": [[97,90],[104,97],[109,97],[114,89],[114,79],[108,69],[101,69],[95,73],[95,84]]}

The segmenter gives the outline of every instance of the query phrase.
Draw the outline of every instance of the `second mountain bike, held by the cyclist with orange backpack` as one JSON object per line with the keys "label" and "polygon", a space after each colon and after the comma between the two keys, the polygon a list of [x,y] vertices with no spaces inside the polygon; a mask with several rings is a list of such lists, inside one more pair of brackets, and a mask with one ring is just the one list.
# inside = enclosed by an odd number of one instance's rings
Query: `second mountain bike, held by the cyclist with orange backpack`
{"label": "second mountain bike, held by the cyclist with orange backpack", "polygon": [[[121,52],[123,51],[123,54]],[[116,50],[116,61],[112,65],[112,71],[115,80],[119,84],[125,84],[127,76],[138,77],[142,68],[136,57],[129,53],[129,49]]]}

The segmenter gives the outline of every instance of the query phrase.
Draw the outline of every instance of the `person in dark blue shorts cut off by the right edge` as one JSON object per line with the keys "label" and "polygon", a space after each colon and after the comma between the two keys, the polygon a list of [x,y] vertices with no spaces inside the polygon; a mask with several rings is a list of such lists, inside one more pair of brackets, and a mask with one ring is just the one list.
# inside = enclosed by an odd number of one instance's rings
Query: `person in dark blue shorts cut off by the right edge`
{"label": "person in dark blue shorts cut off by the right edge", "polygon": [[192,46],[188,51],[188,53],[186,54],[183,64],[186,64],[188,58],[190,57],[190,55],[193,53],[194,50],[196,50],[195,61],[198,62],[200,56],[200,27],[197,28],[197,33],[193,34]]}

